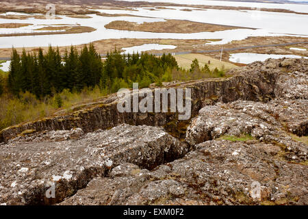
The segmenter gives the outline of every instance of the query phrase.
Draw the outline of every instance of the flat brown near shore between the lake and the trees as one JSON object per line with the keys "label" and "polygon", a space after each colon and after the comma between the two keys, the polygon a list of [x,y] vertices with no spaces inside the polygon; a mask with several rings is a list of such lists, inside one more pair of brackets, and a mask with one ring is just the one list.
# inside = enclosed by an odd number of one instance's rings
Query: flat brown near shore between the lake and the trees
{"label": "flat brown near shore between the lake and the trees", "polygon": [[[60,32],[63,34],[63,32]],[[44,33],[46,34],[46,33]],[[124,47],[135,47],[142,44],[172,44],[177,48],[175,49],[164,49],[164,50],[151,50],[149,53],[179,53],[179,52],[190,52],[190,53],[200,53],[198,51],[203,50],[214,50],[217,49],[219,52],[215,53],[204,53],[204,55],[209,55],[216,60],[220,60],[220,49],[237,48],[237,47],[249,47],[262,44],[281,44],[285,42],[299,42],[298,44],[292,45],[292,47],[305,48],[307,51],[296,51],[289,49],[285,46],[281,47],[261,47],[253,49],[238,49],[234,51],[223,51],[222,60],[229,62],[230,53],[267,53],[267,54],[287,54],[287,55],[302,55],[308,56],[308,44],[301,44],[300,42],[306,42],[307,38],[296,37],[296,36],[270,36],[270,37],[248,37],[245,40],[233,40],[227,44],[207,44],[211,41],[217,41],[218,39],[196,39],[196,40],[177,40],[177,39],[133,39],[133,38],[122,38],[122,39],[107,39],[107,40],[97,40],[94,41],[94,47],[100,54],[107,54],[108,51],[116,49],[122,49]],[[218,40],[219,41],[219,40]],[[56,46],[56,45],[52,45]],[[77,49],[80,50],[84,44],[77,45]],[[65,49],[67,47],[59,47],[60,53],[64,55]],[[15,48],[18,53],[22,53],[23,48]],[[38,47],[26,47],[25,51],[37,51]],[[48,47],[42,47],[44,52],[48,50]],[[11,56],[12,48],[0,49],[0,57],[8,58]],[[0,58],[1,59],[1,58]],[[240,64],[235,64],[241,66]]]}

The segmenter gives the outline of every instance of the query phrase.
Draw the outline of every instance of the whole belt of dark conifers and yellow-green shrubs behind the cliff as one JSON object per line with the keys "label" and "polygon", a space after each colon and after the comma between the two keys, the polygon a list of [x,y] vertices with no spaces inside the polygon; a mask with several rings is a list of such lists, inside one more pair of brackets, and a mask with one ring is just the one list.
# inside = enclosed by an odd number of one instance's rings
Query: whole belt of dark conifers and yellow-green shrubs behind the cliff
{"label": "whole belt of dark conifers and yellow-green shrubs behind the cliff", "polygon": [[9,73],[0,72],[0,130],[53,114],[60,107],[72,107],[117,92],[120,88],[139,88],[151,83],[222,77],[223,70],[209,70],[194,60],[189,70],[179,68],[175,57],[149,53],[107,53],[102,60],[93,44],[80,51],[75,47],[60,55],[58,48],[46,53],[18,54],[12,49]]}

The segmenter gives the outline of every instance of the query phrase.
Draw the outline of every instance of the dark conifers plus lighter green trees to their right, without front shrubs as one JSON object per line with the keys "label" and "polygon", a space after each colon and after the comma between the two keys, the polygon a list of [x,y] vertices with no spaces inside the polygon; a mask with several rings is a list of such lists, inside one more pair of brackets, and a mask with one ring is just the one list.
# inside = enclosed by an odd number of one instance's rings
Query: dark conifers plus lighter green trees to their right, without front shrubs
{"label": "dark conifers plus lighter green trees to their right, without front shrubs", "polygon": [[[8,88],[12,94],[30,92],[38,98],[52,96],[64,89],[81,91],[83,88],[99,86],[108,92],[128,88],[132,82],[147,87],[155,81],[162,81],[167,69],[178,68],[172,55],[155,57],[148,53],[121,54],[114,50],[107,53],[105,62],[93,44],[84,46],[81,51],[70,47],[61,57],[58,48],[49,46],[47,53],[19,55],[12,49]],[[1,88],[0,88],[1,91]]]}

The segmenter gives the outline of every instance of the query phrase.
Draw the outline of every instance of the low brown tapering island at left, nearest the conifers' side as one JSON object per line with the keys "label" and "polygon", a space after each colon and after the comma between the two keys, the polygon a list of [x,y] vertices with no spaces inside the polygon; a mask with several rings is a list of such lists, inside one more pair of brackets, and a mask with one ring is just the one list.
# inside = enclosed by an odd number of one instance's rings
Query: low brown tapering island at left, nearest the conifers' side
{"label": "low brown tapering island at left, nearest the conifers' side", "polygon": [[[47,32],[32,32],[32,33],[20,33],[20,34],[0,34],[1,36],[36,36],[36,35],[52,35],[52,34],[81,34],[81,33],[88,33],[95,31],[97,29],[93,27],[84,27],[84,26],[62,26],[62,27],[42,27],[40,29],[36,30],[47,30]],[[64,31],[59,31],[55,32],[55,30],[64,30]],[[50,32],[48,32],[50,31]]]}

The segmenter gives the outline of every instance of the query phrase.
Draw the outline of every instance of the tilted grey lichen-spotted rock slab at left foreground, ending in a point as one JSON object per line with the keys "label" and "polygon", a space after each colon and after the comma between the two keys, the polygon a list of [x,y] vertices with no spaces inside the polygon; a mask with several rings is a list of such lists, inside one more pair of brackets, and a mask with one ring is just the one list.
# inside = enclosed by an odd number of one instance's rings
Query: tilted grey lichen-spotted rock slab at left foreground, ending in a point
{"label": "tilted grey lichen-spotted rock slab at left foreground, ending in a point", "polygon": [[[1,146],[0,203],[58,203],[119,164],[151,169],[188,152],[186,144],[159,127],[120,125],[57,142],[42,136],[57,134],[40,133]],[[120,170],[113,170],[112,175],[121,175]],[[53,185],[55,198],[47,198]]]}

